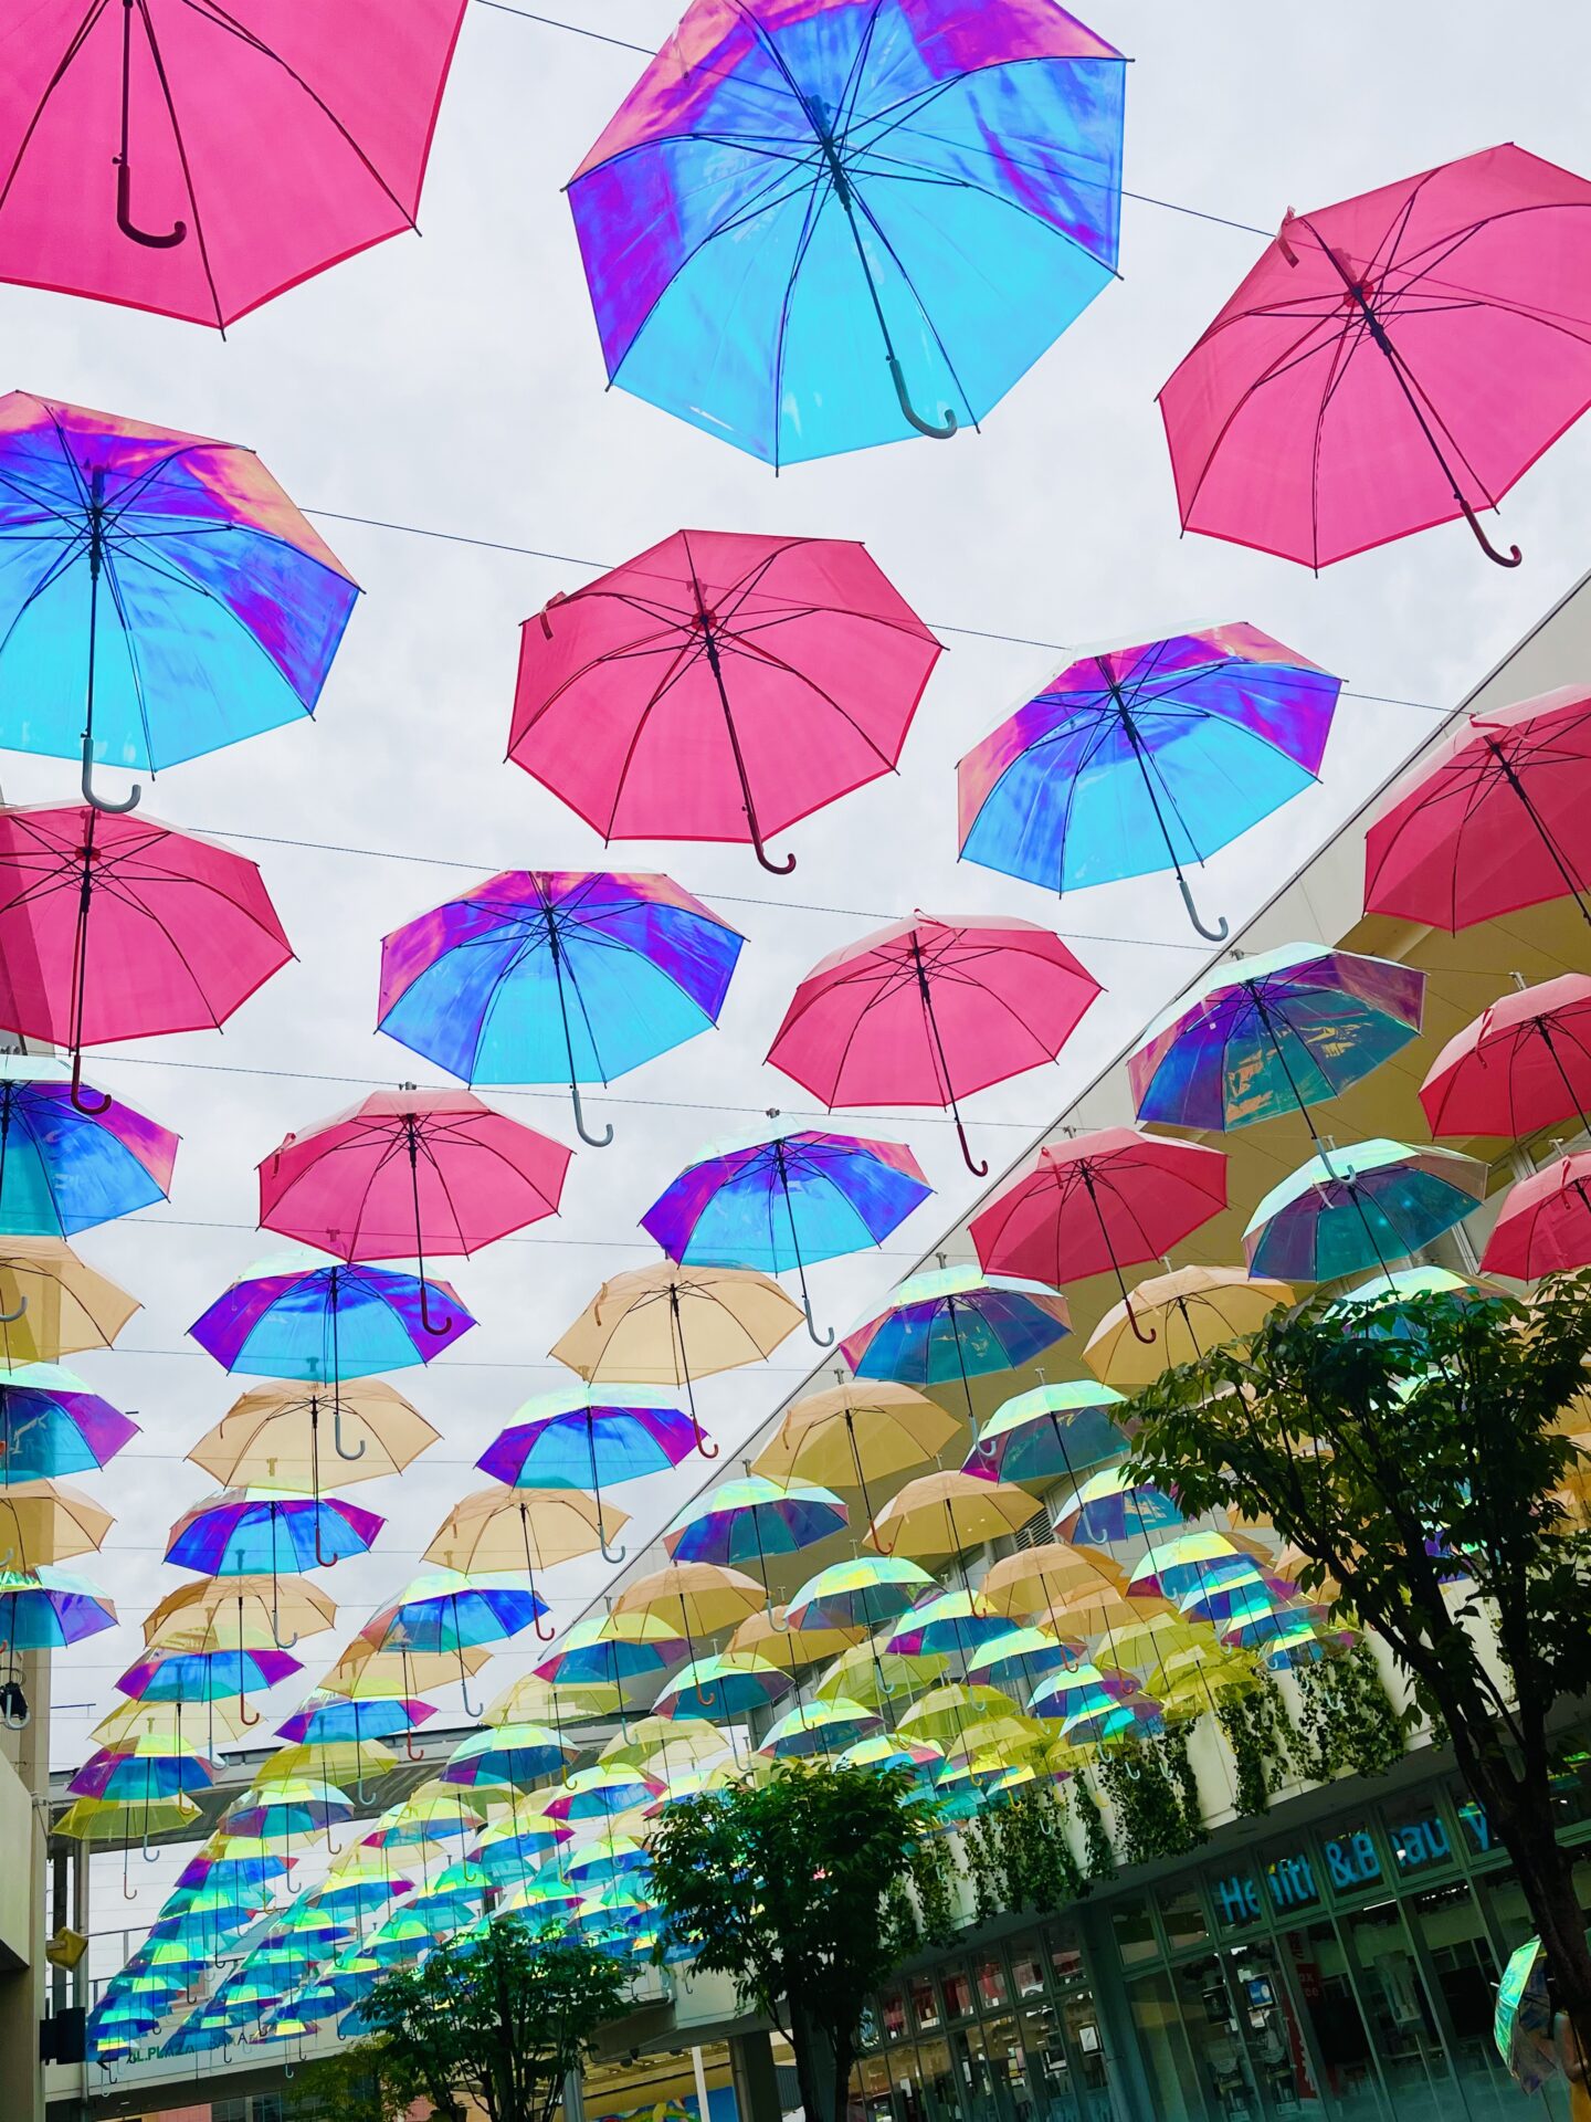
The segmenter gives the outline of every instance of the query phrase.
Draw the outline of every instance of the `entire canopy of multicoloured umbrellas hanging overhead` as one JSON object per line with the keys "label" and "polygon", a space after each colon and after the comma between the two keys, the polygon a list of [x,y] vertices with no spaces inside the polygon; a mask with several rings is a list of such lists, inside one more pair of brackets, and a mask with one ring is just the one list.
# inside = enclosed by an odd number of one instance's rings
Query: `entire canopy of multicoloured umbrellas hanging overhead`
{"label": "entire canopy of multicoloured umbrellas hanging overhead", "polygon": [[[0,278],[225,327],[412,229],[462,15],[32,8],[0,83]],[[1048,0],[694,0],[569,187],[609,380],[774,467],[976,429],[1118,276],[1124,76]],[[1319,569],[1464,518],[1517,562],[1481,516],[1591,401],[1587,206],[1583,178],[1500,146],[1277,216],[1160,393],[1184,528]],[[0,1029],[28,1042],[0,1061],[6,1717],[23,1653],[115,1621],[66,1568],[110,1515],[68,1483],[136,1426],[64,1358],[110,1347],[138,1305],[72,1239],[163,1201],[178,1159],[85,1065],[218,1029],[293,957],[252,862],[102,772],[314,715],[356,596],[252,452],[0,399],[0,747],[81,775],[81,800],[0,811]],[[897,766],[938,654],[857,543],[677,530],[524,622],[509,758],[605,842],[728,840],[787,874],[770,842]],[[961,760],[959,851],[1050,895],[1162,876],[1222,942],[1190,872],[1319,777],[1339,692],[1249,624],[1071,660]],[[1591,921],[1587,796],[1591,696],[1472,719],[1381,804],[1366,910],[1457,932],[1572,895]],[[602,1148],[583,1089],[711,1031],[740,953],[670,876],[607,868],[505,872],[382,940],[375,1027],[458,1086],[373,1091],[263,1156],[259,1224],[297,1250],[189,1328],[242,1388],[189,1451],[218,1488],[170,1528],[189,1575],[144,1617],[62,1831],[125,1865],[195,1821],[216,1753],[261,1723],[250,1698],[335,1625],[312,1577],[382,1532],[346,1492],[437,1441],[388,1375],[475,1324],[437,1263],[577,1184],[564,1144],[477,1093],[566,1084],[575,1135]],[[948,1114],[982,1176],[963,1108],[1052,1063],[1097,995],[1033,919],[919,912],[815,966],[768,1061],[829,1112]],[[1436,1137],[1585,1125],[1591,980],[1568,974],[1434,1057],[1434,1140],[1319,1133],[1322,1106],[1419,1038],[1421,1006],[1419,972],[1322,942],[1220,963],[1133,1055],[1137,1125],[1027,1156],[972,1222],[976,1260],[906,1280],[840,1341],[834,1386],[740,1479],[706,1479],[666,1566],[556,1636],[547,1579],[622,1564],[639,1485],[719,1456],[698,1381],[802,1324],[834,1345],[808,1269],[929,1197],[899,1142],[802,1127],[704,1148],[641,1216],[658,1265],[605,1282],[556,1341],[569,1388],[513,1415],[429,1575],[278,1725],[98,2005],[100,2056],[178,2005],[174,2052],[356,2022],[382,1967],[488,1906],[645,1952],[647,1821],[781,1755],[904,1763],[955,1821],[1332,1655],[1264,1528],[1186,1524],[1122,1471],[1126,1398],[1307,1284],[1368,1277],[1351,1318],[1400,1330],[1432,1273],[1400,1263],[1487,1190]],[[1228,1205],[1222,1150],[1186,1131],[1281,1114],[1315,1154],[1254,1205],[1243,1265],[1169,1267]],[[1483,1267],[1591,1260],[1589,1188],[1591,1152],[1523,1180]],[[1069,1367],[1063,1290],[1101,1275],[1118,1301],[1088,1375],[1048,1377]],[[1037,1384],[980,1420],[974,1379],[1014,1371]],[[974,1579],[969,1555],[1010,1534],[1025,1545]],[[477,1674],[515,1640],[532,1674],[482,1712]],[[354,1825],[452,1687],[479,1729]],[[295,1893],[310,1846],[331,1869]]]}

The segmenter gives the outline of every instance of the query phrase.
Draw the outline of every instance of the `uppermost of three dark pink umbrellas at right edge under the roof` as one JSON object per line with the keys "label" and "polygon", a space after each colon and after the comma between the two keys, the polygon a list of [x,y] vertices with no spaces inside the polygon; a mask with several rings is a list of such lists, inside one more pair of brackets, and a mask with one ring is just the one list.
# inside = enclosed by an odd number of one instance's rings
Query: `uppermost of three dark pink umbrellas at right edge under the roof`
{"label": "uppermost of three dark pink umbrellas at right edge under the roof", "polygon": [[1591,694],[1559,685],[1474,715],[1377,804],[1364,910],[1457,934],[1574,895],[1591,923]]}

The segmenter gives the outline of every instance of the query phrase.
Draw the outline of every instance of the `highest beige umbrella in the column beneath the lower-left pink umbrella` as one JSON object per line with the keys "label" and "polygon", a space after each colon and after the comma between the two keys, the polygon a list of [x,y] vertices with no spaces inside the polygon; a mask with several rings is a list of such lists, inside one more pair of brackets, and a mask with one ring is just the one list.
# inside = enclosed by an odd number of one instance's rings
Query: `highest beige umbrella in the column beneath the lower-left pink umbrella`
{"label": "highest beige umbrella in the column beneath the lower-left pink umbrella", "polygon": [[252,1386],[189,1451],[223,1488],[320,1494],[350,1481],[403,1473],[437,1432],[401,1392],[378,1377],[337,1388],[267,1379]]}

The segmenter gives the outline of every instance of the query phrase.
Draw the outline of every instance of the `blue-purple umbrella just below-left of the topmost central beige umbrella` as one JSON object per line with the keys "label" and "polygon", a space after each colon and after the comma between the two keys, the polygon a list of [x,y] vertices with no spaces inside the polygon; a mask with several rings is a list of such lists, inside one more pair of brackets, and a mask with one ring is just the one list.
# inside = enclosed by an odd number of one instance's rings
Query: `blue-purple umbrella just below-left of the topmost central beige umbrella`
{"label": "blue-purple umbrella just below-left of the topmost central beige umbrella", "polygon": [[545,1392],[520,1407],[475,1464],[507,1488],[590,1490],[602,1560],[619,1564],[624,1549],[609,1547],[602,1521],[602,1483],[611,1488],[664,1473],[679,1466],[694,1445],[694,1424],[641,1386],[632,1386],[624,1401],[590,1390]]}

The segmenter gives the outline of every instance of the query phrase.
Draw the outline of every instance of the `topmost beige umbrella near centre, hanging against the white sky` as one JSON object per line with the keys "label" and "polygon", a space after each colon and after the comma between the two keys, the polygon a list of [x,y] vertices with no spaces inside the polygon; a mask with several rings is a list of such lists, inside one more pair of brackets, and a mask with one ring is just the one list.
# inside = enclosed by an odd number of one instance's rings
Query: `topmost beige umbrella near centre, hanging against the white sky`
{"label": "topmost beige umbrella near centre, hanging against the white sky", "polygon": [[588,1386],[639,1379],[683,1392],[696,1449],[709,1449],[696,1422],[696,1379],[762,1362],[800,1326],[789,1297],[742,1267],[636,1267],[613,1275],[552,1354]]}

